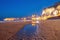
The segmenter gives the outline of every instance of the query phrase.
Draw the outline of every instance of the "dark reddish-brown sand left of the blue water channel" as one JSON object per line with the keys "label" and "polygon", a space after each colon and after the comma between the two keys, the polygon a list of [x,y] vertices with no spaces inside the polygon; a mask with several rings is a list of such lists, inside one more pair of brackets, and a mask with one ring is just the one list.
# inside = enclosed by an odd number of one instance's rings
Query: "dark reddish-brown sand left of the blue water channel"
{"label": "dark reddish-brown sand left of the blue water channel", "polygon": [[0,23],[0,40],[8,40],[28,23],[26,22],[4,22]]}

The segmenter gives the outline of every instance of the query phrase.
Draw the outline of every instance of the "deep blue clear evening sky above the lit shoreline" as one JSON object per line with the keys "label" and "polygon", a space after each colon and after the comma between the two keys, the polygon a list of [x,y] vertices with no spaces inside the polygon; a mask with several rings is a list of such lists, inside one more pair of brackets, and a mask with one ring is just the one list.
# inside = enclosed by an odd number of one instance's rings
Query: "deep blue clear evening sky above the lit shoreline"
{"label": "deep blue clear evening sky above the lit shoreline", "polygon": [[59,0],[0,0],[0,18],[40,15],[42,10]]}

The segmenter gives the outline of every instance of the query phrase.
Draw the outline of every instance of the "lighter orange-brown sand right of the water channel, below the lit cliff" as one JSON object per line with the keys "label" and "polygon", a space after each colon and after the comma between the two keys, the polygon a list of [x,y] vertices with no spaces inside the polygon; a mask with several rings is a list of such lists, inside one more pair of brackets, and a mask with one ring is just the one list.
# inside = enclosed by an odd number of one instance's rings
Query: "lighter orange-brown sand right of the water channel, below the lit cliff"
{"label": "lighter orange-brown sand right of the water channel, below the lit cliff", "polygon": [[43,40],[60,40],[60,19],[41,21],[39,26]]}

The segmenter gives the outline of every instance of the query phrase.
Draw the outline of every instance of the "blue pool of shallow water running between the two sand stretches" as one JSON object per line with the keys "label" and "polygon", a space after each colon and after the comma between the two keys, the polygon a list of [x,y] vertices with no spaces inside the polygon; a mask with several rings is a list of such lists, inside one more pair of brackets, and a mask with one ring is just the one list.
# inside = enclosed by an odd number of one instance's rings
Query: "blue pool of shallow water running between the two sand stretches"
{"label": "blue pool of shallow water running between the two sand stretches", "polygon": [[28,24],[19,30],[14,36],[12,36],[10,40],[32,40],[37,34],[38,26],[32,26],[31,24]]}

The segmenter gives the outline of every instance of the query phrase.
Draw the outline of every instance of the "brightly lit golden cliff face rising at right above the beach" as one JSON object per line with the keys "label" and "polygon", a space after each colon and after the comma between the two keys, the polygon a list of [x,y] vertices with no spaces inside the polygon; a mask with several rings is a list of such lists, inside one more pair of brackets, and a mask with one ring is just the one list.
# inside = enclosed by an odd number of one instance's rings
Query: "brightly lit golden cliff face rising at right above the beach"
{"label": "brightly lit golden cliff face rising at right above the beach", "polygon": [[60,16],[60,5],[58,5],[56,8],[50,7],[44,9],[42,12],[42,16],[43,16],[42,20],[46,20],[51,17]]}

